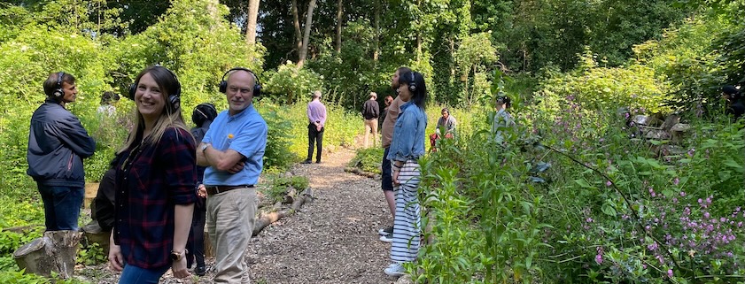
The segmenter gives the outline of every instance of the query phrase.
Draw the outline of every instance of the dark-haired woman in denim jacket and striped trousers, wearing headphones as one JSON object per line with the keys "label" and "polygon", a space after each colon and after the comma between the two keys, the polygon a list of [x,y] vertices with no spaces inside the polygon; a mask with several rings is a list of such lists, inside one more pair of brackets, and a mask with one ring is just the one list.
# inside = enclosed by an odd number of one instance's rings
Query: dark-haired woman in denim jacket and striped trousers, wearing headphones
{"label": "dark-haired woman in denim jacket and striped trousers, wearing headphones", "polygon": [[396,217],[393,220],[392,264],[385,274],[404,274],[405,263],[415,261],[421,241],[421,216],[418,197],[420,172],[419,157],[424,155],[424,133],[427,115],[424,104],[427,86],[421,73],[409,72],[399,77],[401,105],[393,131],[388,159],[392,165],[392,179],[396,191]]}

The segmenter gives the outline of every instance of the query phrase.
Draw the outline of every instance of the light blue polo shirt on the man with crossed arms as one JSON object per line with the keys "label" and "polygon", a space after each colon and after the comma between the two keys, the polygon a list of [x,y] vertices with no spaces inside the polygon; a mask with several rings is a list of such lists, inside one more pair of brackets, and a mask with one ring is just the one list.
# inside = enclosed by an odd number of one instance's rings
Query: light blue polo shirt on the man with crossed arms
{"label": "light blue polo shirt on the man with crossed arms", "polygon": [[249,105],[244,111],[230,116],[222,111],[214,119],[202,142],[211,143],[216,150],[236,150],[245,157],[245,165],[238,173],[221,172],[213,166],[205,170],[208,186],[253,185],[259,181],[267,148],[267,122]]}

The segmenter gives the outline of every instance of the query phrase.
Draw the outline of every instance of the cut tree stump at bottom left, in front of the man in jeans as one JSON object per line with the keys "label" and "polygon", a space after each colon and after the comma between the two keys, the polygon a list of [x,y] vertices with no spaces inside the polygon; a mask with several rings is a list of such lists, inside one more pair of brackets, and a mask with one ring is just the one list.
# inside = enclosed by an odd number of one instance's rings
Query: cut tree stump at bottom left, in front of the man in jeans
{"label": "cut tree stump at bottom left, in front of the man in jeans", "polygon": [[45,232],[13,252],[13,258],[27,273],[51,276],[51,272],[57,272],[60,278],[68,279],[73,276],[81,236],[76,231]]}

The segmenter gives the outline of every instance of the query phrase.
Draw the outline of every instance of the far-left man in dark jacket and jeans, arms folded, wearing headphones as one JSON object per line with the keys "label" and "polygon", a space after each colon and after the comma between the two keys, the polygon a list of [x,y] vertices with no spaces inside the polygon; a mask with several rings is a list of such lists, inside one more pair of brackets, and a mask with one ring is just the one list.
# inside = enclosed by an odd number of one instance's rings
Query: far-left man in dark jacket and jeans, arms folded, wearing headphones
{"label": "far-left man in dark jacket and jeans, arms folded, wearing headphones", "polygon": [[42,195],[46,230],[77,230],[85,195],[82,159],[93,155],[96,142],[65,109],[78,94],[73,75],[51,73],[44,93],[47,99],[31,117],[26,173]]}

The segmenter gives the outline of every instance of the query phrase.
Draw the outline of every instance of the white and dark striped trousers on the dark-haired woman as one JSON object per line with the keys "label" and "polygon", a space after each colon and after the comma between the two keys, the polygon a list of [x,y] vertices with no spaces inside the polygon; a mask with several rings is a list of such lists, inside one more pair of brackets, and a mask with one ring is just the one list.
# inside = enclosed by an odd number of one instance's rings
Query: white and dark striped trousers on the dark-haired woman
{"label": "white and dark striped trousers on the dark-haired woman", "polygon": [[399,173],[400,185],[393,188],[396,192],[396,216],[393,219],[393,242],[391,244],[393,262],[414,261],[419,253],[421,217],[416,191],[419,188],[421,176],[419,164],[415,160],[408,160]]}

